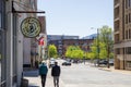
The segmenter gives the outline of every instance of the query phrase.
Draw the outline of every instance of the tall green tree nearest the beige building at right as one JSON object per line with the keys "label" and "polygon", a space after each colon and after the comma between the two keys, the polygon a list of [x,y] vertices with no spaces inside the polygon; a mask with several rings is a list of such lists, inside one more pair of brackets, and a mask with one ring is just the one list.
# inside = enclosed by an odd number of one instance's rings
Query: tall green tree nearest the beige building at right
{"label": "tall green tree nearest the beige building at right", "polygon": [[91,52],[88,52],[90,59],[109,59],[114,58],[112,53],[114,40],[112,30],[108,26],[103,26],[98,29],[98,36],[91,46]]}

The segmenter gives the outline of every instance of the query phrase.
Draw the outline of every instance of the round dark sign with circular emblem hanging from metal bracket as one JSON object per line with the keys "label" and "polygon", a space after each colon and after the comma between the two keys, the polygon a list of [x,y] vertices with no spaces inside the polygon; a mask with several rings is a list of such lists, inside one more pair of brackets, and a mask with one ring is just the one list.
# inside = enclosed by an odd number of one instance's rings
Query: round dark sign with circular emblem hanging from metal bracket
{"label": "round dark sign with circular emblem hanging from metal bracket", "polygon": [[36,37],[41,29],[40,22],[35,17],[27,17],[22,21],[21,30],[25,37]]}

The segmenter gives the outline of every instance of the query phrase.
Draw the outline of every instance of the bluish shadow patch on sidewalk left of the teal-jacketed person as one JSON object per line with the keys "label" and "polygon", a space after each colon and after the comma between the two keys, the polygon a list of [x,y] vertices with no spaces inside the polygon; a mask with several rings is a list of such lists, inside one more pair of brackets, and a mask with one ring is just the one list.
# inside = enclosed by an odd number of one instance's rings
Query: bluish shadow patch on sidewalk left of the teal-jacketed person
{"label": "bluish shadow patch on sidewalk left of the teal-jacketed person", "polygon": [[38,77],[38,70],[24,71],[23,76],[26,77]]}

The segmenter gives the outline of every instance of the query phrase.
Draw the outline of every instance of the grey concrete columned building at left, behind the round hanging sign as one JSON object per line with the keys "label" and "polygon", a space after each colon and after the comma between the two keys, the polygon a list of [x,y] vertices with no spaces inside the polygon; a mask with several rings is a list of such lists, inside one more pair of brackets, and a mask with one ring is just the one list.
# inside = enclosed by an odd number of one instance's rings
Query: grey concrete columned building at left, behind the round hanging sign
{"label": "grey concrete columned building at left, behind the round hanging sign", "polygon": [[22,35],[21,23],[36,14],[16,12],[36,11],[36,4],[37,0],[0,0],[0,87],[21,86],[24,44],[28,42],[31,49],[29,39]]}

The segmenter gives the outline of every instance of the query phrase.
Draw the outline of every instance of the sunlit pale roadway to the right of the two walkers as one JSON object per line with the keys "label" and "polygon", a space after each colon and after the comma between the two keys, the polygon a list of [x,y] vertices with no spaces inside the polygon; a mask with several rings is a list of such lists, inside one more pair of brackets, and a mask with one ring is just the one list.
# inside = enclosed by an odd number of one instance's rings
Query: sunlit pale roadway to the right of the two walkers
{"label": "sunlit pale roadway to the right of the two walkers", "polygon": [[131,74],[99,70],[84,64],[61,66],[66,87],[131,87]]}

